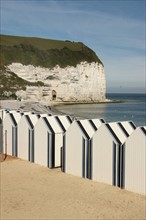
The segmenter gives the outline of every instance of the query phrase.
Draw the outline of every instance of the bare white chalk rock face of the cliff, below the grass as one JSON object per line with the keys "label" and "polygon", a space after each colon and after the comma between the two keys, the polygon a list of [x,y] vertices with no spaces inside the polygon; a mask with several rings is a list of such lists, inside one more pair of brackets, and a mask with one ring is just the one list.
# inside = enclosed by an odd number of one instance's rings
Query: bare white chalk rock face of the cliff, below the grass
{"label": "bare white chalk rock face of the cliff, below the grass", "polygon": [[26,91],[17,91],[23,100],[45,102],[96,102],[104,101],[106,80],[101,63],[82,62],[76,67],[59,66],[53,69],[12,63],[8,70],[29,81],[41,81],[44,86],[27,86]]}

